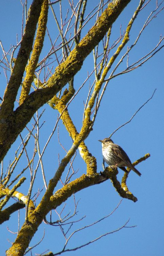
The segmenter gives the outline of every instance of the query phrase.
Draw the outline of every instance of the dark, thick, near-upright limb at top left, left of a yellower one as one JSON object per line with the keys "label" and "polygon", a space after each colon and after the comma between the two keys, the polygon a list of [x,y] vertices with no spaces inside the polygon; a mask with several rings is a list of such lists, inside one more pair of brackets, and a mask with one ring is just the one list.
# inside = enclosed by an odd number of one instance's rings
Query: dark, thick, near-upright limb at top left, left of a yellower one
{"label": "dark, thick, near-upright limb at top left, left of a yellower one", "polygon": [[14,102],[16,100],[18,89],[22,82],[22,77],[26,64],[32,51],[36,25],[40,16],[42,3],[43,0],[34,0],[30,6],[28,20],[26,22],[24,34],[21,40],[21,46],[17,55],[17,59],[15,61],[14,68],[11,73],[10,81],[8,82],[7,88],[5,90],[3,102],[1,104],[0,120],[2,118],[4,119],[3,122],[1,122],[2,127],[0,128],[2,129],[3,126],[5,128],[5,123],[7,123],[6,119],[8,118],[8,115],[13,113]]}

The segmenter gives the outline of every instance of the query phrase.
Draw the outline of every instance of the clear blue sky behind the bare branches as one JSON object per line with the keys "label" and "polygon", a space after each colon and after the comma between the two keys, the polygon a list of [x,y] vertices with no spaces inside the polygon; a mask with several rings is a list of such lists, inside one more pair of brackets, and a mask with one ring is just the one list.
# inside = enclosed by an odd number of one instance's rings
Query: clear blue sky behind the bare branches
{"label": "clear blue sky behind the bare branches", "polygon": [[[93,2],[88,1],[88,11],[91,10]],[[122,24],[122,30],[126,30],[126,26],[130,21],[136,7],[139,4],[139,0],[132,0],[125,8],[120,17],[116,20],[112,27],[110,45],[120,35],[120,25]],[[28,5],[31,3],[29,1]],[[61,1],[63,12],[66,13],[69,8],[67,1]],[[59,12],[59,5],[56,4],[56,14]],[[162,7],[164,4],[161,5]],[[162,8],[161,7],[161,8]],[[151,0],[150,3],[144,8],[138,18],[135,20],[132,30],[130,31],[130,41],[125,46],[123,53],[125,53],[127,46],[131,46],[134,43],[139,31],[142,29],[147,16],[152,10],[156,8],[156,1]],[[63,14],[64,15],[64,14]],[[96,17],[92,22],[88,24],[88,27],[84,29],[84,33],[81,37],[87,33],[91,25],[94,24]],[[1,33],[0,40],[3,44],[4,50],[7,52],[10,45],[16,44],[16,34],[18,33],[18,41],[21,38],[21,24],[22,24],[22,5],[19,0],[7,0],[0,2],[0,24]],[[55,21],[52,17],[51,10],[49,9],[48,30],[52,39],[55,39],[58,34]],[[146,55],[153,49],[159,42],[160,35],[164,36],[164,13],[163,11],[152,20],[147,26],[138,45],[133,48],[129,54],[129,63],[133,63]],[[162,43],[163,44],[163,43]],[[44,48],[41,53],[41,58],[48,53],[50,43],[48,35],[46,34]],[[114,50],[115,51],[115,50]],[[117,58],[120,60],[123,53]],[[1,55],[2,56],[2,51]],[[16,57],[16,55],[14,56]],[[0,57],[1,59],[2,57]],[[41,59],[40,58],[40,59]],[[129,190],[134,196],[138,198],[136,203],[123,199],[119,208],[104,221],[82,231],[77,232],[70,240],[67,248],[75,248],[83,245],[89,241],[96,239],[104,233],[112,232],[123,226],[128,219],[130,221],[128,226],[135,226],[134,228],[123,228],[122,230],[109,234],[102,239],[99,239],[95,243],[83,247],[75,252],[65,253],[65,255],[81,256],[81,255],[94,255],[94,256],[162,256],[164,255],[164,207],[163,207],[163,183],[164,183],[164,171],[163,171],[163,159],[164,159],[164,48],[147,61],[142,67],[135,69],[134,71],[115,77],[111,80],[106,89],[104,98],[101,102],[101,107],[97,114],[97,118],[93,127],[93,131],[86,139],[85,143],[93,156],[97,159],[97,172],[102,171],[102,145],[98,140],[102,140],[109,137],[110,134],[119,126],[123,125],[132,117],[132,115],[152,96],[154,89],[157,88],[153,98],[136,114],[132,121],[126,126],[119,129],[112,139],[114,143],[119,144],[125,152],[128,154],[132,162],[141,158],[146,153],[150,153],[151,157],[146,161],[143,161],[137,166],[137,169],[142,173],[139,177],[134,172],[130,172],[127,185]],[[115,62],[114,67],[117,62]],[[57,63],[54,62],[54,68]],[[120,70],[126,68],[126,60],[122,63]],[[77,91],[79,86],[87,78],[87,71],[90,73],[93,69],[93,54],[84,61],[83,67],[77,74],[74,80],[74,86]],[[0,74],[0,97],[3,97],[6,87],[6,79],[3,69],[1,68]],[[110,73],[109,73],[110,75]],[[94,75],[91,77],[91,83],[94,80]],[[68,85],[66,86],[68,87]],[[73,122],[80,131],[83,119],[84,102],[88,96],[89,82],[81,89],[81,94],[78,94],[75,100],[70,104],[68,110],[73,119]],[[19,96],[18,98],[19,99]],[[43,106],[39,110],[39,114],[45,108],[45,112],[42,117],[45,124],[40,131],[41,148],[43,148],[52,129],[56,123],[57,111],[50,108],[49,105]],[[31,120],[31,124],[34,123]],[[46,131],[46,132],[45,132]],[[26,134],[22,132],[22,136]],[[62,126],[62,122],[59,122],[59,136],[60,142],[69,150],[72,145],[72,140],[69,137],[65,127]],[[4,160],[4,170],[7,169],[9,161],[13,161],[15,157],[15,151],[19,145],[20,139],[12,145],[10,152],[7,154]],[[34,145],[34,140],[32,141]],[[30,148],[29,148],[30,150]],[[46,173],[47,182],[53,177],[55,169],[58,168],[58,152],[60,154],[60,160],[65,156],[65,152],[58,146],[57,132],[54,134],[47,151],[44,153],[43,163]],[[32,153],[33,154],[33,149]],[[22,171],[28,164],[26,157],[18,165],[16,173]],[[79,171],[76,177],[86,173],[86,164],[80,158],[77,151],[77,161],[74,163],[74,169]],[[68,170],[68,168],[67,168]],[[66,171],[67,171],[66,170]],[[27,171],[29,173],[29,170]],[[124,172],[119,169],[117,178],[121,181]],[[64,175],[63,175],[64,177]],[[38,184],[34,186],[34,191],[37,192],[38,186],[40,190],[43,187],[41,181],[41,169],[38,171],[37,179]],[[63,178],[64,179],[64,178]],[[27,179],[22,185],[19,192],[26,195],[28,193]],[[40,185],[41,184],[41,185]],[[57,186],[57,189],[60,185]],[[45,190],[44,190],[45,191]],[[41,194],[43,195],[43,193]],[[40,197],[41,199],[41,197]],[[40,200],[39,199],[39,200]],[[76,201],[78,203],[78,214],[75,219],[78,220],[86,215],[86,217],[79,223],[74,224],[72,230],[76,230],[80,227],[89,225],[99,219],[105,217],[111,213],[117,204],[120,202],[121,197],[117,194],[112,183],[108,180],[102,184],[91,186],[85,190],[82,190],[75,194]],[[12,201],[14,203],[14,200]],[[66,215],[70,210],[74,211],[73,198],[69,198],[66,202],[66,211],[63,215]],[[58,212],[62,209],[63,205],[57,209]],[[25,216],[25,210],[21,210],[21,223],[23,224]],[[54,221],[57,219],[57,215],[53,214]],[[1,253],[5,254],[5,251],[11,244],[7,241],[14,242],[16,234],[12,234],[7,231],[7,226],[12,232],[17,232],[18,226],[15,223],[15,219],[18,219],[18,213],[14,213],[11,216],[10,221],[3,223],[1,226]],[[49,219],[49,217],[48,217]],[[74,219],[74,220],[75,220]],[[57,253],[62,250],[65,243],[65,238],[58,227],[49,227],[44,223],[38,228],[35,237],[33,238],[30,246],[35,245],[40,241],[43,236],[45,227],[45,237],[43,241],[34,248],[32,255],[41,254],[47,249],[53,253]],[[2,240],[3,237],[3,240]],[[27,254],[27,255],[30,255]]]}

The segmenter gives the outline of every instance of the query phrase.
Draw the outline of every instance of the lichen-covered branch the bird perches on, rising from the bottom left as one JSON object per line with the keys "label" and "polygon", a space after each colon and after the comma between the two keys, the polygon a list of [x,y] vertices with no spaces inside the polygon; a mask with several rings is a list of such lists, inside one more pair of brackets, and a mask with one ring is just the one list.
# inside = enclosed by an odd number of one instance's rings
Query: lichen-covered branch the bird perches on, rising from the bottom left
{"label": "lichen-covered branch the bird perches on, rising from the bottom left", "polygon": [[[135,163],[137,164],[148,157],[149,154],[145,155],[145,157],[143,158],[140,158]],[[60,173],[61,172],[58,172],[58,175],[60,175]],[[129,190],[125,191],[122,188],[120,182],[116,178],[117,173],[117,168],[113,170],[107,167],[102,175],[99,175],[98,173],[92,175],[83,174],[81,177],[65,185],[64,187],[59,189],[54,195],[52,195],[56,182],[59,179],[59,177],[57,177],[58,179],[54,177],[52,180],[50,180],[48,189],[45,192],[45,195],[42,198],[38,207],[34,211],[29,212],[29,222],[23,224],[18,234],[18,237],[16,238],[16,241],[14,242],[13,246],[7,251],[7,255],[12,255],[12,253],[14,255],[16,250],[19,252],[18,255],[23,255],[21,253],[24,252],[32,237],[34,236],[34,233],[37,231],[38,226],[41,224],[42,219],[49,213],[49,211],[52,209],[56,209],[57,206],[65,202],[72,194],[80,191],[81,189],[95,184],[99,184],[107,179],[110,179],[116,191],[121,197],[136,202],[137,198],[134,197],[133,194],[129,192]]]}

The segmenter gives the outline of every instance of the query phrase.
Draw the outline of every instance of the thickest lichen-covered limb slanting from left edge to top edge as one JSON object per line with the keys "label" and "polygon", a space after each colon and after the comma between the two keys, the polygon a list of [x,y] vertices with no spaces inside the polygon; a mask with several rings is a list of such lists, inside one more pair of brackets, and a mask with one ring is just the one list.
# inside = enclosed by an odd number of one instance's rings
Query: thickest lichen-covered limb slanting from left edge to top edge
{"label": "thickest lichen-covered limb slanting from left edge to top edge", "polygon": [[[42,1],[40,2],[42,3]],[[36,0],[34,2],[36,2]],[[113,22],[116,20],[116,18],[120,15],[120,13],[123,11],[125,6],[129,2],[130,0],[116,0],[109,3],[108,8],[98,18],[95,25],[89,30],[87,35],[81,40],[78,46],[70,53],[67,60],[56,68],[55,73],[50,77],[48,82],[42,88],[35,90],[28,97],[26,97],[24,102],[13,113],[12,111],[14,108],[14,101],[16,98],[16,94],[21,84],[23,72],[25,70],[27,60],[29,58],[29,57],[27,58],[25,54],[26,51],[24,52],[24,48],[22,48],[22,45],[21,45],[21,48],[19,51],[20,55],[18,54],[19,58],[17,57],[15,66],[17,66],[16,63],[20,61],[21,57],[24,59],[24,55],[25,55],[26,61],[24,61],[23,62],[24,64],[21,66],[21,74],[19,72],[18,74],[16,73],[14,76],[14,77],[19,76],[19,79],[15,78],[18,80],[16,81],[16,85],[15,85],[17,89],[16,89],[16,92],[14,93],[14,100],[13,100],[13,94],[12,94],[12,101],[8,103],[7,96],[10,96],[9,98],[11,98],[12,90],[9,90],[9,91],[7,90],[8,95],[6,94],[6,96],[4,97],[4,102],[2,103],[3,111],[0,113],[0,120],[1,120],[0,121],[1,122],[0,123],[0,161],[3,159],[3,157],[7,153],[12,143],[16,140],[16,138],[18,137],[18,134],[23,130],[25,125],[30,121],[34,113],[43,104],[45,104],[54,95],[56,95],[57,92],[60,91],[61,88],[65,86],[66,83],[70,81],[71,78],[81,69],[81,66],[83,65],[83,61],[85,60],[85,58],[90,54],[92,49],[103,39],[104,35],[109,30]],[[39,6],[41,9],[41,5]],[[38,10],[38,8],[36,9]],[[27,40],[26,40],[26,43],[27,43]],[[30,50],[31,50],[31,47],[30,47]],[[28,56],[30,56],[30,51],[28,53],[29,53]],[[9,106],[7,104],[9,104]],[[7,108],[7,115],[5,114],[6,108]],[[11,113],[12,115],[10,116]]]}

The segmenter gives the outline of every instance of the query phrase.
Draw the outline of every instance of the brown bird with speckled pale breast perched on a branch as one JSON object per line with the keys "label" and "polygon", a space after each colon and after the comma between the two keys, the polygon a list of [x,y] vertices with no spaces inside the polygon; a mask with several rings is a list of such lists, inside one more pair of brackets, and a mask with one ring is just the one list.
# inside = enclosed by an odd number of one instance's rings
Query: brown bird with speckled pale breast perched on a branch
{"label": "brown bird with speckled pale breast perched on a branch", "polygon": [[125,168],[126,166],[133,170],[136,174],[141,176],[141,173],[132,165],[129,157],[122,149],[122,147],[120,147],[117,144],[114,144],[114,142],[110,138],[105,138],[104,140],[98,141],[102,142],[103,158],[109,166],[117,166],[124,172],[128,173],[128,171]]}

